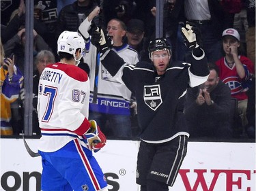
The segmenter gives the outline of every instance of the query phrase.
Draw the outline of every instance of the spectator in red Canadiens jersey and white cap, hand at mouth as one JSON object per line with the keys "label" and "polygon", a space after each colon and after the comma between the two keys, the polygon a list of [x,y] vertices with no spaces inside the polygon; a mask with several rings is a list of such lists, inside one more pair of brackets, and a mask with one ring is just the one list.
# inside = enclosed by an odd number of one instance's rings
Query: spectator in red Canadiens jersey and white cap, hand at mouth
{"label": "spectator in red Canadiens jersey and white cap, hand at mouth", "polygon": [[242,119],[242,131],[247,124],[246,91],[251,86],[251,75],[254,67],[251,60],[240,55],[240,35],[236,29],[226,29],[223,31],[223,50],[225,56],[216,65],[220,71],[220,79],[231,89],[231,97],[238,99],[238,113]]}

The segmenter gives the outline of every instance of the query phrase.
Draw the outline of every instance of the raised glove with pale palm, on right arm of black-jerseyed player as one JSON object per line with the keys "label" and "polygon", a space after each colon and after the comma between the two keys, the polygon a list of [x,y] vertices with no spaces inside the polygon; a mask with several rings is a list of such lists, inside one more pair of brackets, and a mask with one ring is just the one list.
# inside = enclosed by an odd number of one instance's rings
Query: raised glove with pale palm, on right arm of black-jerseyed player
{"label": "raised glove with pale palm, on right arm of black-jerseyed player", "polygon": [[189,50],[198,48],[201,44],[201,32],[190,22],[186,22],[186,27],[182,27],[182,36]]}

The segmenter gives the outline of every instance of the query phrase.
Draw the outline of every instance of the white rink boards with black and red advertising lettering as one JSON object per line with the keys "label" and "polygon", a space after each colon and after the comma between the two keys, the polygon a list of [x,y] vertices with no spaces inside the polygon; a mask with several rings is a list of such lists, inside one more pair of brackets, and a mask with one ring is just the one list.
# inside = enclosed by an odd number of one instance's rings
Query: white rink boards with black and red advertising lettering
{"label": "white rink boards with black and red advertising lettering", "polygon": [[[37,151],[39,139],[27,139]],[[31,158],[23,139],[1,139],[0,190],[39,191],[41,158]],[[136,164],[139,141],[108,140],[94,154],[109,191],[139,191]],[[170,191],[255,191],[255,143],[188,142],[188,152]]]}

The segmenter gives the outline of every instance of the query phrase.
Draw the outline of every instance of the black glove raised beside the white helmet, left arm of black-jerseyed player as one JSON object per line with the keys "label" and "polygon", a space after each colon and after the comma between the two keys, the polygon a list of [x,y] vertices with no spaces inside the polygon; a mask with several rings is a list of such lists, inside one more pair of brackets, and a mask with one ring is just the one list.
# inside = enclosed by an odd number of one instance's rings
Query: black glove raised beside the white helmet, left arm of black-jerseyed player
{"label": "black glove raised beside the white helmet, left arm of black-jerseyed player", "polygon": [[113,41],[105,29],[94,29],[91,33],[91,44],[100,49],[100,57],[113,47]]}

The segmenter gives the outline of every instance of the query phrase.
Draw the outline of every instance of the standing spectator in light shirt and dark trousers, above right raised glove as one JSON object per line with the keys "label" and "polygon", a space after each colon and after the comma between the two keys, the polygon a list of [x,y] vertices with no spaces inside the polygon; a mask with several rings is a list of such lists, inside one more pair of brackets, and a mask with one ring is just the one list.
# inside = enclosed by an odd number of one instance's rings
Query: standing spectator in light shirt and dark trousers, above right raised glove
{"label": "standing spectator in light shirt and dark trousers, above right raised glove", "polygon": [[[201,31],[201,46],[208,61],[215,63],[223,56],[221,51],[221,33],[223,31],[223,7],[220,1],[184,0],[184,13],[186,20],[193,22]],[[181,37],[179,35],[179,37]],[[177,50],[183,41],[177,44]],[[177,59],[184,59],[187,50],[179,51]]]}

